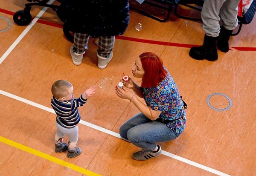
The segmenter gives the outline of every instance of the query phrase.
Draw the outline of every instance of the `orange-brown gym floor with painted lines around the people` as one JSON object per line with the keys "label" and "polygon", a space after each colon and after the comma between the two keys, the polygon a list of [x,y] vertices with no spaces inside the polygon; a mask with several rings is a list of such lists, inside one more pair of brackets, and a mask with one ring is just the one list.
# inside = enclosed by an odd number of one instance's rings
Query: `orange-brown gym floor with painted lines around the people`
{"label": "orange-brown gym floor with painted lines around the people", "polygon": [[[256,19],[230,39],[231,47],[250,51],[233,49],[218,52],[215,62],[196,61],[189,57],[188,47],[117,38],[113,59],[106,69],[100,70],[93,40],[82,64],[75,66],[69,53],[72,43],[64,38],[61,28],[37,22],[28,30],[27,26],[14,24],[8,12],[23,9],[25,3],[0,3],[0,16],[11,21],[11,27],[0,32],[0,176],[256,175]],[[32,17],[41,9],[32,7]],[[40,19],[62,24],[52,9]],[[135,29],[137,23],[143,25],[140,32]],[[6,26],[6,21],[0,19],[0,29]],[[14,46],[24,30],[28,32]],[[201,23],[188,21],[186,25],[186,20],[173,15],[168,22],[160,23],[131,11],[124,36],[200,45],[204,31]],[[123,72],[131,75],[131,66],[142,52],[160,55],[188,104],[185,131],[174,141],[161,144],[165,151],[162,156],[145,162],[133,160],[131,155],[139,148],[117,134],[122,123],[139,111],[129,101],[118,98],[114,89]],[[98,89],[79,109],[83,120],[78,125],[81,156],[68,159],[66,153],[55,153],[55,114],[50,109],[52,83],[68,80],[74,86],[75,96],[79,96],[101,78],[109,79],[105,89]],[[206,101],[212,93],[230,97],[232,107],[226,111],[212,110]],[[221,108],[227,106],[227,101],[220,97],[211,103]],[[12,145],[12,141],[17,143]],[[34,150],[41,153],[31,153]]]}

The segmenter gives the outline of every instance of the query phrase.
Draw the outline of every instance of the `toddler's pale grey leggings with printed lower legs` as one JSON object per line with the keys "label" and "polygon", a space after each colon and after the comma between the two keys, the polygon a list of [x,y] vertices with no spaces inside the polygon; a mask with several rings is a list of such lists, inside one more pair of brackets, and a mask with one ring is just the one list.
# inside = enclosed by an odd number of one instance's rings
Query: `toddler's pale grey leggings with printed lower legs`
{"label": "toddler's pale grey leggings with printed lower legs", "polygon": [[62,144],[62,138],[68,136],[68,149],[75,150],[78,141],[78,126],[73,128],[64,128],[56,122],[57,132],[55,134],[55,144]]}

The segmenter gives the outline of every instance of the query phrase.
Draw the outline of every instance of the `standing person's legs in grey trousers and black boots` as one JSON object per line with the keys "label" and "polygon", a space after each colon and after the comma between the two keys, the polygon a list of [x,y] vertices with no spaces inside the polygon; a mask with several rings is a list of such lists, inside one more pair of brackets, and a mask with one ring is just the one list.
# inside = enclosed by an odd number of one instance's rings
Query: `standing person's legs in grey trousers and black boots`
{"label": "standing person's legs in grey trousers and black boots", "polygon": [[[230,35],[238,25],[237,12],[239,0],[205,0],[201,12],[204,28],[204,44],[192,47],[189,56],[203,60],[215,61],[218,59],[216,41],[221,52],[228,52]],[[219,21],[222,20],[220,28]]]}

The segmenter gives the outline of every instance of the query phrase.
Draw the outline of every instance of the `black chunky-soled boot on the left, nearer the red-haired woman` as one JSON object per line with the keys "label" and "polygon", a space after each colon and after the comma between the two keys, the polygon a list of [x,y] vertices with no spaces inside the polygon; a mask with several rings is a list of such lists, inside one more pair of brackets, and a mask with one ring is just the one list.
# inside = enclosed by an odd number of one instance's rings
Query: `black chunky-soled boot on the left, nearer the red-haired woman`
{"label": "black chunky-soled boot on the left, nearer the red-haired woman", "polygon": [[218,53],[216,49],[216,40],[217,37],[209,37],[207,35],[204,35],[204,44],[200,47],[192,47],[189,51],[189,56],[196,60],[217,60]]}

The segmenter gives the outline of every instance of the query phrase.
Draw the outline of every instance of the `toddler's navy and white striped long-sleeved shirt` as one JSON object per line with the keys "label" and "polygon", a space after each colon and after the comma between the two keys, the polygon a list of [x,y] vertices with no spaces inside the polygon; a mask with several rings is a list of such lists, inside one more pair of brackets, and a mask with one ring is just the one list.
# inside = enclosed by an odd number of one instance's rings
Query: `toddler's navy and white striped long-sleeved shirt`
{"label": "toddler's navy and white striped long-sleeved shirt", "polygon": [[70,101],[57,100],[52,97],[51,105],[57,117],[56,121],[62,127],[73,128],[79,123],[81,116],[78,112],[78,107],[83,106],[87,102],[82,95],[79,98]]}

